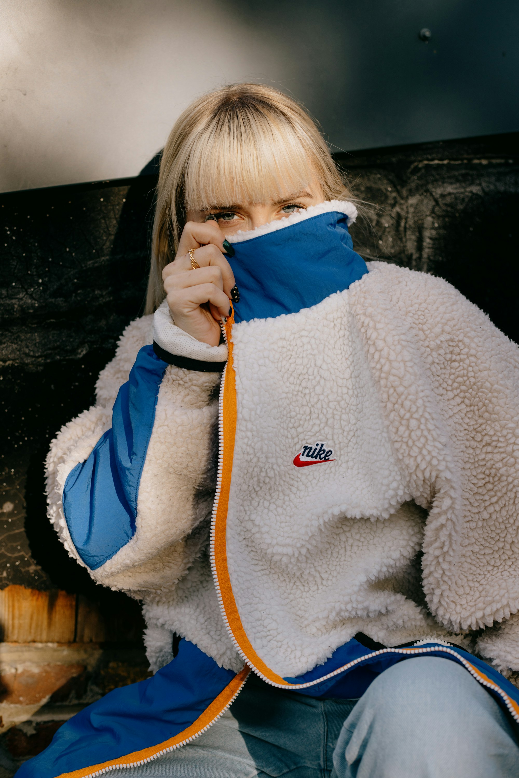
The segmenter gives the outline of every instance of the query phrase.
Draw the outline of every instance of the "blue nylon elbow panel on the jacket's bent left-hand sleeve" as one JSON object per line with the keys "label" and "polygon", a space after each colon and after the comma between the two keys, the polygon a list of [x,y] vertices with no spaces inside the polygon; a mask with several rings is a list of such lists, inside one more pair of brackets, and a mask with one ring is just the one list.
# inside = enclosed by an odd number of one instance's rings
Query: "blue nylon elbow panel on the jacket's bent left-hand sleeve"
{"label": "blue nylon elbow panel on the jacket's bent left-hand sleeve", "polygon": [[167,363],[144,346],[112,412],[112,429],[69,473],[63,510],[72,542],[92,570],[117,554],[135,534],[137,497]]}

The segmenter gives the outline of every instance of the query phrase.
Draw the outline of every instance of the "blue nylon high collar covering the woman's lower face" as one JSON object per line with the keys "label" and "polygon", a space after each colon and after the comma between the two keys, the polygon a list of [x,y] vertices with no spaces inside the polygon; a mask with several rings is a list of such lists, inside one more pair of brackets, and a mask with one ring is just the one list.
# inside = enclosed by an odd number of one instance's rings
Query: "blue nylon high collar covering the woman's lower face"
{"label": "blue nylon high collar covering the woman's lower face", "polygon": [[235,321],[294,314],[343,292],[367,273],[347,217],[330,212],[233,244],[227,258],[240,289]]}

